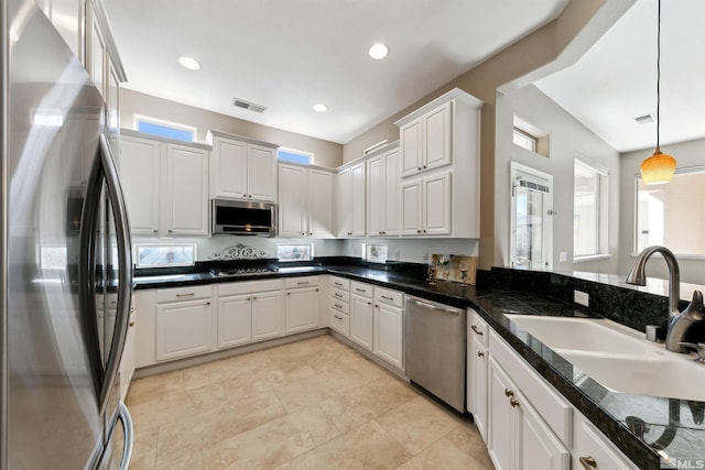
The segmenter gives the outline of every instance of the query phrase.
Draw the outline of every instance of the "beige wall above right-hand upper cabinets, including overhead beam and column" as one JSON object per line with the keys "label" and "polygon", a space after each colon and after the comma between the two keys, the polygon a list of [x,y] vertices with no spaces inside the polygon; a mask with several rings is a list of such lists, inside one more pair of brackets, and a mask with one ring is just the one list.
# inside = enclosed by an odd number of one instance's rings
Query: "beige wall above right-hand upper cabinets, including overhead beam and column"
{"label": "beige wall above right-hand upper cabinets, including overhead beam and column", "polygon": [[[362,149],[382,139],[399,139],[393,122],[452,88],[460,88],[485,101],[480,135],[480,247],[479,266],[489,269],[507,262],[509,178],[505,162],[496,161],[498,135],[497,90],[510,91],[568,66],[587,51],[636,0],[571,0],[553,22],[507,47],[479,66],[432,94],[411,103],[388,120],[345,144],[343,161],[360,156]],[[498,166],[499,165],[499,166]]]}

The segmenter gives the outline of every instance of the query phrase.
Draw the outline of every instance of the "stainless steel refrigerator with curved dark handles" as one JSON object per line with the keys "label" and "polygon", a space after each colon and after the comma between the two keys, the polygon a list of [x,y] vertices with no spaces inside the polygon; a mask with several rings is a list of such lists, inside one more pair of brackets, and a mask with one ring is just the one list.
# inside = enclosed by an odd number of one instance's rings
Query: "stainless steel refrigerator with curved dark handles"
{"label": "stainless steel refrigerator with curved dark handles", "polygon": [[132,260],[105,102],[33,0],[0,20],[0,469],[127,468]]}

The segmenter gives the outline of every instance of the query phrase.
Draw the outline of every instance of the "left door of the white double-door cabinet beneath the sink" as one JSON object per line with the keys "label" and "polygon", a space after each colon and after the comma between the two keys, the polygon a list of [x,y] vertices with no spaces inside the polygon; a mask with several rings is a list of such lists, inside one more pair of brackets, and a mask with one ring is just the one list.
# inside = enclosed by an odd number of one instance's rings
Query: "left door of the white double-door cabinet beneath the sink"
{"label": "left door of the white double-door cabinet beneath the sink", "polygon": [[[487,450],[497,470],[512,470],[516,467],[513,448],[517,445],[517,425],[508,393],[513,393],[513,383],[501,367],[489,360],[488,386],[488,439]],[[538,467],[539,468],[539,467]]]}

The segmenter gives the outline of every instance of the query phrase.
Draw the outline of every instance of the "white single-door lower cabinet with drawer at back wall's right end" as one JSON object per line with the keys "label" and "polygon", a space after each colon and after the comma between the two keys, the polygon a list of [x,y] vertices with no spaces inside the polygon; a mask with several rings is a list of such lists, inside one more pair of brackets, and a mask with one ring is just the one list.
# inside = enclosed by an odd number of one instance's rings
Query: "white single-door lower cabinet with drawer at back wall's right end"
{"label": "white single-door lower cabinet with drawer at back wall's right end", "polygon": [[286,286],[286,334],[318,326],[318,277],[290,277]]}

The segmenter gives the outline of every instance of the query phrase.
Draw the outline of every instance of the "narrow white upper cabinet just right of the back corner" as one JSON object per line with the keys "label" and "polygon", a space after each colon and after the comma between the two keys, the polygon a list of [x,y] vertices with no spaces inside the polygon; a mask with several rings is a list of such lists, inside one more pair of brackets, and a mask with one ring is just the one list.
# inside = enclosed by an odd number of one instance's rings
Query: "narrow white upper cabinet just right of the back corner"
{"label": "narrow white upper cabinet just right of the back corner", "polygon": [[365,237],[365,162],[338,172],[338,237]]}

